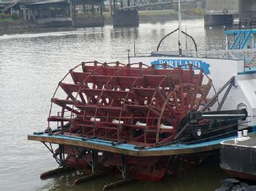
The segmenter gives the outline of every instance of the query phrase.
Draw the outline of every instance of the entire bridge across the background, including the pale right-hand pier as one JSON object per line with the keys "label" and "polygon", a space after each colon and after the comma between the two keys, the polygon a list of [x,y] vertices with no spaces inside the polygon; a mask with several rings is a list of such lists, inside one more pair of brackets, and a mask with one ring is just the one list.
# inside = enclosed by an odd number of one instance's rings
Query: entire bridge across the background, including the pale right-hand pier
{"label": "entire bridge across the background, including the pale right-hand pier", "polygon": [[[114,26],[138,26],[139,9],[178,3],[178,0],[107,1]],[[205,2],[205,25],[228,25],[233,22],[233,17],[256,17],[255,0],[182,0],[182,4],[196,4],[198,1]],[[104,2],[106,0],[16,0],[2,11],[18,14],[35,23],[103,26]]]}

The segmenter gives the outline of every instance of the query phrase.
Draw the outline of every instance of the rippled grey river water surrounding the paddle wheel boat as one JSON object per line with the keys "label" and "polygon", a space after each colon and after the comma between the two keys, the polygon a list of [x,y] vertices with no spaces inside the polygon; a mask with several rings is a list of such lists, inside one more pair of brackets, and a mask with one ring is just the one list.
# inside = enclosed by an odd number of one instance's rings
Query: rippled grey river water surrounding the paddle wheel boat
{"label": "rippled grey river water surrounding the paddle wheel boat", "polygon": [[[106,176],[72,186],[74,174],[42,181],[39,174],[57,167],[47,148],[27,140],[27,134],[44,130],[58,81],[82,61],[127,62],[128,49],[151,52],[160,38],[177,28],[177,21],[142,23],[139,28],[58,28],[0,33],[0,190],[101,190],[117,179]],[[203,27],[203,20],[184,20],[184,30],[199,49],[222,43],[221,28]],[[185,44],[185,38],[182,40]],[[193,48],[187,40],[188,48]],[[167,38],[161,49],[177,50],[177,35]],[[134,182],[115,190],[215,190],[228,177],[217,163],[193,168],[163,182]]]}

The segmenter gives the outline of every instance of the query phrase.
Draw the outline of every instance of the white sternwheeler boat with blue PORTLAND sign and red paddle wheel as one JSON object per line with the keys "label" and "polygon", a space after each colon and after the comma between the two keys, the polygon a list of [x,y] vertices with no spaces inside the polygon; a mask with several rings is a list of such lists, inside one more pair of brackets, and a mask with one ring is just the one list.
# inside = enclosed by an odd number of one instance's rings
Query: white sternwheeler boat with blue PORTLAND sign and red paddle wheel
{"label": "white sternwheeler boat with blue PORTLAND sign and red paddle wheel", "polygon": [[79,184],[122,174],[107,189],[133,179],[160,181],[180,160],[199,163],[239,129],[255,130],[256,73],[245,68],[241,59],[187,56],[180,42],[178,55],[82,62],[58,83],[47,129],[28,135],[58,163],[41,178],[90,170]]}

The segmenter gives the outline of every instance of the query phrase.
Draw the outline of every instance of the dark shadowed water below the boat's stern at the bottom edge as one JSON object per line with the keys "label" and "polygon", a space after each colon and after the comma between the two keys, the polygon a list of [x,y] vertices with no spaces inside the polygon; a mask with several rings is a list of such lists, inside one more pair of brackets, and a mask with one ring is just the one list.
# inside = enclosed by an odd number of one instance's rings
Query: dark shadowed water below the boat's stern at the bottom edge
{"label": "dark shadowed water below the boat's stern at the bottom edge", "polygon": [[[204,163],[201,166],[193,166],[184,169],[183,173],[174,176],[166,175],[162,182],[146,182],[138,181],[125,184],[122,187],[117,187],[112,190],[128,191],[128,190],[147,190],[155,191],[207,191],[216,190],[221,187],[220,179],[228,178],[229,176],[222,172],[219,168],[219,160],[215,158],[211,162]],[[179,167],[180,168],[180,167]],[[76,174],[64,174],[50,179],[46,185],[38,190],[74,190],[74,191],[98,191],[102,190],[105,184],[115,182],[121,179],[120,175],[110,174],[93,181],[84,182],[78,186],[73,186]]]}

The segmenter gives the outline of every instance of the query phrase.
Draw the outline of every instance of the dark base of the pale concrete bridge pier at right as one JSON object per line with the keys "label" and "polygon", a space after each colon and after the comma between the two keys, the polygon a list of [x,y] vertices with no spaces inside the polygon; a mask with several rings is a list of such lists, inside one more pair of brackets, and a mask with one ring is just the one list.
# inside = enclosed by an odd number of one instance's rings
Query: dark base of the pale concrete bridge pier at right
{"label": "dark base of the pale concrete bridge pier at right", "polygon": [[204,15],[205,26],[232,25],[233,15]]}

